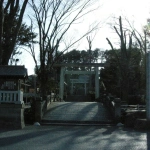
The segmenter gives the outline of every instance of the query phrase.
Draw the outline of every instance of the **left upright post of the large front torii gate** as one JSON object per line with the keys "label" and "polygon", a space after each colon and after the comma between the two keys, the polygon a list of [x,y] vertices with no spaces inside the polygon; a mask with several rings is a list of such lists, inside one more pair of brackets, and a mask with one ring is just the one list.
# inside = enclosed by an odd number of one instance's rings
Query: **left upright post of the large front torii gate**
{"label": "left upright post of the large front torii gate", "polygon": [[64,73],[65,73],[65,67],[61,67],[60,86],[59,86],[59,97],[61,99],[63,99],[63,95],[64,95]]}

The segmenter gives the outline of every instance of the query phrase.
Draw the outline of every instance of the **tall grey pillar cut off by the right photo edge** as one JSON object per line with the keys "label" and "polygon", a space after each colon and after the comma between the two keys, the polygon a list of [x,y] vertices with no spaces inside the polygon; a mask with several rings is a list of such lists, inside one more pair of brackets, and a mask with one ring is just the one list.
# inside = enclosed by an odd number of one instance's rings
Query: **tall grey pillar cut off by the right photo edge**
{"label": "tall grey pillar cut off by the right photo edge", "polygon": [[146,116],[150,121],[150,52],[146,55]]}

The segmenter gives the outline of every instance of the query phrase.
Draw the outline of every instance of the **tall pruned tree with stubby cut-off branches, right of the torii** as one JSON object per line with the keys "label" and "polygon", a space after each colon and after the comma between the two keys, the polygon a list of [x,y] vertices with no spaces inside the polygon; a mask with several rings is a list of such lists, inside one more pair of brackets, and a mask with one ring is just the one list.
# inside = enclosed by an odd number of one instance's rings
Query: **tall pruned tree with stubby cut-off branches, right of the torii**
{"label": "tall pruned tree with stubby cut-off branches, right of the torii", "polygon": [[[129,77],[131,76],[130,72],[132,68],[134,68],[134,65],[137,64],[135,63],[136,59],[133,59],[132,57],[132,51],[137,48],[135,44],[136,42],[133,40],[136,40],[136,38],[134,37],[134,31],[123,28],[121,17],[119,17],[119,28],[114,26],[114,30],[120,40],[120,56],[116,54],[115,49],[108,38],[107,41],[117,59],[117,64],[120,72],[121,99],[123,101],[127,101],[129,95]],[[139,60],[138,65],[140,66]]]}

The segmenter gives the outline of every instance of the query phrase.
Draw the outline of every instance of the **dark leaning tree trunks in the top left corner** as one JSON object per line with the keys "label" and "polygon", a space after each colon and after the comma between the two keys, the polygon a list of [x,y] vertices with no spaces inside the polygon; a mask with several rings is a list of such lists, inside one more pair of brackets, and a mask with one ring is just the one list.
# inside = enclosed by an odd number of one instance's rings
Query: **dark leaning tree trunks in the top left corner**
{"label": "dark leaning tree trunks in the top left corner", "polygon": [[[8,65],[15,49],[27,3],[28,0],[24,0],[22,3],[20,0],[0,1],[0,65]],[[17,19],[16,16],[18,16]],[[7,30],[5,30],[6,25]]]}

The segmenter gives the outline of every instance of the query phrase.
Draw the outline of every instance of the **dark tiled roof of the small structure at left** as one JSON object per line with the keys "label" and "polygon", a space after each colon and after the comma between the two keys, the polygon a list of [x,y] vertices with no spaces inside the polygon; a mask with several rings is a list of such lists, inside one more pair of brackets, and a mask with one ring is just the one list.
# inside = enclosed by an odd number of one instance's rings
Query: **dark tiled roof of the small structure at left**
{"label": "dark tiled roof of the small structure at left", "polygon": [[28,73],[24,66],[0,66],[0,77],[2,76],[16,76],[25,78],[28,76]]}

